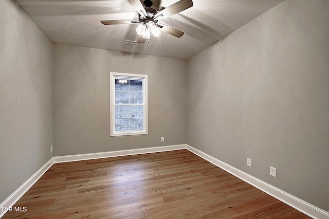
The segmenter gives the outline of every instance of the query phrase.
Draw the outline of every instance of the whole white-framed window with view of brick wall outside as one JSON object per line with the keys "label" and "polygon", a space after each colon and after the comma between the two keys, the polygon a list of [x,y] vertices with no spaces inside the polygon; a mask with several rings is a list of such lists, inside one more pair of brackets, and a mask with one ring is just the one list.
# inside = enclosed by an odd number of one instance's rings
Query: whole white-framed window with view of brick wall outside
{"label": "whole white-framed window with view of brick wall outside", "polygon": [[111,72],[111,136],[148,134],[148,76]]}

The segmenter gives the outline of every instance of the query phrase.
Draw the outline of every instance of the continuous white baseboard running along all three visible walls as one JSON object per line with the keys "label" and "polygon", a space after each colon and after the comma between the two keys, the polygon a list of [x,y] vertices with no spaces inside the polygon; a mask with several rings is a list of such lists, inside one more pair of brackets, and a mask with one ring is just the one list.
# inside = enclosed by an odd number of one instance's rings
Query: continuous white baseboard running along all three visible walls
{"label": "continuous white baseboard running along all three visible walls", "polygon": [[[121,151],[111,151],[111,152],[100,152],[100,153],[90,153],[90,154],[78,154],[78,155],[68,155],[68,156],[57,156],[51,158],[42,168],[40,168],[36,173],[34,173],[24,184],[13,192],[0,206],[3,207],[12,207],[18,199],[20,199],[25,192],[53,165],[53,163],[60,162],[69,162],[69,161],[78,161],[78,160],[88,160],[88,159],[99,159],[106,157],[117,157],[117,156],[127,156],[135,154],[147,154],[163,151],[174,151],[187,149],[192,153],[196,154],[199,157],[204,158],[205,160],[213,163],[217,167],[231,173],[232,175],[244,180],[248,184],[266,192],[267,194],[281,200],[287,205],[305,213],[306,215],[313,218],[329,218],[329,212],[326,212],[314,205],[311,205],[304,200],[295,197],[285,191],[282,191],[272,185],[268,184],[265,181],[262,181],[254,176],[251,176],[235,167],[228,165],[227,163],[218,160],[196,148],[191,147],[188,144],[177,144],[169,145],[163,147],[154,147],[154,148],[142,148],[142,149],[132,149],[132,150],[121,150]],[[6,213],[6,211],[0,210],[0,218]]]}

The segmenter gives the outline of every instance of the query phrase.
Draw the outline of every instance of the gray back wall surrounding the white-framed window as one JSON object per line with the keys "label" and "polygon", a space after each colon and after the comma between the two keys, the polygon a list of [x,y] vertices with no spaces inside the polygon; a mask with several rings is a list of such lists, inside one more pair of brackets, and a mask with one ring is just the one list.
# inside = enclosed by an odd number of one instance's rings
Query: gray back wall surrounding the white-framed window
{"label": "gray back wall surrounding the white-framed window", "polygon": [[[55,44],[53,65],[55,156],[186,143],[186,60]],[[110,71],[148,75],[148,135],[109,137]]]}

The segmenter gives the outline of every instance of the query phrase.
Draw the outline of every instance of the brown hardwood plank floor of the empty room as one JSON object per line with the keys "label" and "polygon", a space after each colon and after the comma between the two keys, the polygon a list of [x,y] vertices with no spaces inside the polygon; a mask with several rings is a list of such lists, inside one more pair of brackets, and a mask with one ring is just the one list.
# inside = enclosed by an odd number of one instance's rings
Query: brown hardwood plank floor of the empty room
{"label": "brown hardwood plank floor of the empty room", "polygon": [[14,207],[3,218],[309,218],[188,150],[55,163]]}

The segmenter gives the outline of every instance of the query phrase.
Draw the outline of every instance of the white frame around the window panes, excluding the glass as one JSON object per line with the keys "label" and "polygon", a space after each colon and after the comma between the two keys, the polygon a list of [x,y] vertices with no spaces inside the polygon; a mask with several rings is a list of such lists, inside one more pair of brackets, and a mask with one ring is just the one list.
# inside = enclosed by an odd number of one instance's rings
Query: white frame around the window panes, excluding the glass
{"label": "white frame around the window panes, excluding the glass", "polygon": [[[142,98],[143,98],[143,130],[132,131],[115,131],[115,79],[116,78],[131,78],[142,80]],[[125,135],[145,135],[148,134],[148,76],[130,73],[110,72],[109,74],[109,112],[110,112],[110,136],[125,136]]]}

